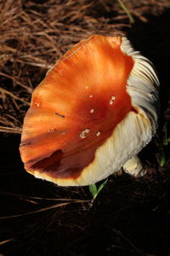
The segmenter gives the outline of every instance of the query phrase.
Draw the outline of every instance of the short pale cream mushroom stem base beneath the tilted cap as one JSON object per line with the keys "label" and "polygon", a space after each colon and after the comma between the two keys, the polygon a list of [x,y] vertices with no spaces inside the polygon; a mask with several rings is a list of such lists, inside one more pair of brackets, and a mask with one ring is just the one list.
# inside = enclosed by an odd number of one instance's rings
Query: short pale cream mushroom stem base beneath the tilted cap
{"label": "short pale cream mushroom stem base beneath the tilted cap", "polygon": [[139,157],[133,156],[131,159],[122,166],[123,170],[134,177],[144,175],[144,166],[142,165]]}

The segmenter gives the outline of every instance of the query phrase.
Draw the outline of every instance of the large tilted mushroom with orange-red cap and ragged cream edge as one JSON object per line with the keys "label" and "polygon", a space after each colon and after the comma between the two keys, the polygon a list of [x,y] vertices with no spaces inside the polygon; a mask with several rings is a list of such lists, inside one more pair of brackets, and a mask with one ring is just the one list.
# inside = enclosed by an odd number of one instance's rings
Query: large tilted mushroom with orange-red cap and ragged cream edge
{"label": "large tilted mushroom with orange-red cap and ragged cream edge", "polygon": [[34,90],[20,143],[27,172],[61,186],[96,183],[137,154],[156,132],[159,81],[124,37],[76,44]]}

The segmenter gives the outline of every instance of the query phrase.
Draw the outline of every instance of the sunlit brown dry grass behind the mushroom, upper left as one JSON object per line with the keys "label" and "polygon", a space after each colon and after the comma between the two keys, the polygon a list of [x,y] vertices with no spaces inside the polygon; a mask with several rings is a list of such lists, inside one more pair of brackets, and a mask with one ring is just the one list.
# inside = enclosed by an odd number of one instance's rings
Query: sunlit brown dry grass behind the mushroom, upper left
{"label": "sunlit brown dry grass behind the mushroom, upper left", "polygon": [[[138,3],[137,3],[138,2]],[[129,13],[159,15],[167,1],[123,1]],[[48,68],[82,38],[125,34],[128,16],[117,1],[0,2],[0,131],[20,133],[31,92]]]}

